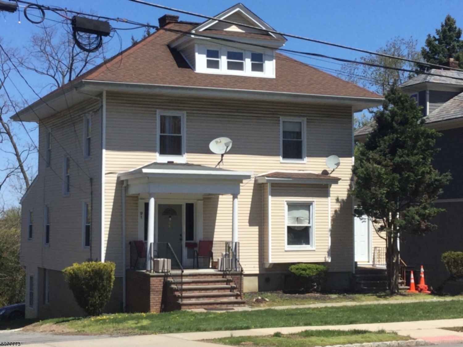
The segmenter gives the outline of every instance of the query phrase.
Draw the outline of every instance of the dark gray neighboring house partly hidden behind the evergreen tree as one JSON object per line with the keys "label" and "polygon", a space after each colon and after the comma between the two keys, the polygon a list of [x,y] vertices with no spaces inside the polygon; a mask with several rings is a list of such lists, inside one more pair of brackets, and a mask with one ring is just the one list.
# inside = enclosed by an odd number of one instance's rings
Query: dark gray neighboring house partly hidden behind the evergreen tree
{"label": "dark gray neighboring house partly hidden behind the evergreen tree", "polygon": [[[447,62],[449,65],[458,67],[453,61]],[[440,260],[442,253],[463,251],[463,72],[432,69],[430,73],[433,75],[421,74],[400,87],[423,106],[426,125],[442,133],[433,166],[441,173],[450,171],[452,180],[435,201],[446,210],[433,220],[437,230],[421,236],[404,235],[400,257],[417,270],[423,265],[426,284],[436,288],[449,275]],[[356,130],[355,139],[364,141],[370,130],[371,124]]]}

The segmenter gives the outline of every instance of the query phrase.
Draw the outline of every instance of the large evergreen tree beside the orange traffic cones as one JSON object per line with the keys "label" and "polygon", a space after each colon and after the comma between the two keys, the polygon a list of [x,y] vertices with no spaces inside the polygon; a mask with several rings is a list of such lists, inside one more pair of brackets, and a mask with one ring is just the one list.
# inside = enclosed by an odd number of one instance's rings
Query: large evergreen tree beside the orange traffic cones
{"label": "large evergreen tree beside the orange traffic cones", "polygon": [[432,217],[443,209],[432,204],[450,180],[450,173],[432,168],[439,133],[425,127],[415,100],[393,86],[375,112],[375,128],[357,149],[352,195],[355,215],[367,215],[386,239],[388,288],[399,291],[399,235],[436,229]]}

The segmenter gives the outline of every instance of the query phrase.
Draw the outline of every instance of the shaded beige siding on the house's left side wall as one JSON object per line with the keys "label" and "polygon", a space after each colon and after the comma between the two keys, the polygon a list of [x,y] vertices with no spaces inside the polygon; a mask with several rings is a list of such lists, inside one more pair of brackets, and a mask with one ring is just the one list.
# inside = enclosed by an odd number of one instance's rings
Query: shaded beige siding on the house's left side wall
{"label": "shaded beige siding on the house's left side wall", "polygon": [[[92,115],[91,159],[83,155],[83,116]],[[100,237],[100,103],[89,99],[39,124],[38,177],[22,203],[21,263],[27,268],[43,267],[62,270],[74,262],[90,258],[90,250],[82,248],[83,201],[90,201],[93,178],[92,257],[99,257]],[[45,167],[46,136],[51,129],[51,165]],[[70,161],[70,193],[63,196],[63,155]],[[75,161],[81,168],[78,168]],[[88,176],[87,176],[88,175]],[[44,246],[44,205],[50,206],[50,245]],[[27,211],[33,209],[32,240],[27,240]],[[29,270],[28,270],[29,271]],[[34,270],[35,271],[35,270]],[[39,299],[39,298],[38,298]]]}

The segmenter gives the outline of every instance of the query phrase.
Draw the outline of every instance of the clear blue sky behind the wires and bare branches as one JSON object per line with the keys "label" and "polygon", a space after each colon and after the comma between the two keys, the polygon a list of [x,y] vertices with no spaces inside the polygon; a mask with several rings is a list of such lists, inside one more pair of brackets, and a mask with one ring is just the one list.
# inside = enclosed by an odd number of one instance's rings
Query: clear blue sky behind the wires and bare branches
{"label": "clear blue sky behind the wires and bare branches", "polygon": [[[151,0],[149,0],[151,1]],[[187,11],[213,16],[236,4],[236,0],[152,0],[164,6],[171,6]],[[67,7],[82,12],[91,12],[106,17],[127,18],[141,23],[157,25],[157,19],[165,13],[173,13],[131,2],[129,0],[38,0],[39,4]],[[457,20],[457,25],[463,26],[463,1],[461,0],[249,0],[243,4],[265,20],[275,30],[310,37],[332,43],[357,47],[364,50],[376,50],[386,41],[396,37],[413,37],[418,40],[418,46],[424,45],[428,33],[434,34],[447,14]],[[203,19],[179,14],[180,20],[203,21]],[[31,33],[37,27],[29,23],[23,13],[19,13],[21,24],[18,23],[18,12],[10,14],[0,12],[0,37],[4,44],[13,47],[27,45]],[[47,12],[48,19],[59,19],[55,14]],[[121,23],[111,23],[114,27],[128,27]],[[118,31],[122,38],[122,48],[131,44],[130,37],[140,37],[142,29],[133,31]],[[119,40],[114,38],[108,43],[109,54],[119,51]],[[285,48],[303,50],[328,56],[354,59],[361,53],[334,48],[318,43],[289,38]],[[316,67],[338,69],[338,63],[296,57]],[[27,74],[31,85],[38,88],[43,81]],[[21,93],[28,101],[36,100],[34,93],[18,79]],[[17,95],[11,85],[6,85],[9,93]],[[43,91],[45,93],[46,91]],[[1,91],[0,91],[1,94]],[[21,137],[25,133],[17,129]],[[31,136],[37,139],[37,131]],[[0,144],[2,146],[2,144]],[[3,157],[2,157],[3,156]],[[0,166],[6,159],[0,153]],[[3,198],[14,204],[17,197],[2,189]]]}

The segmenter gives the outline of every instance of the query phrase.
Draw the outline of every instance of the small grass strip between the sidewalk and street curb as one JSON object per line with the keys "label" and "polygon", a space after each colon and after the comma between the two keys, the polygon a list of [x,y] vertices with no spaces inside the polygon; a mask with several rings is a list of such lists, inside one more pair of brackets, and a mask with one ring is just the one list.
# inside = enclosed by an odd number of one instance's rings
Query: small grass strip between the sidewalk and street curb
{"label": "small grass strip between the sidewalk and street curb", "polygon": [[207,342],[224,345],[266,346],[266,347],[314,347],[347,345],[364,342],[405,341],[408,336],[387,333],[384,330],[370,332],[368,330],[305,330],[297,334],[273,336],[239,336],[208,340]]}

